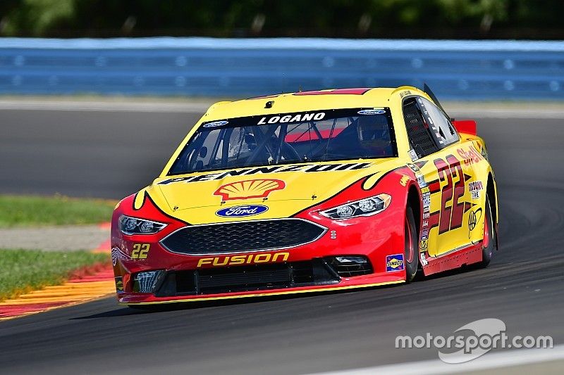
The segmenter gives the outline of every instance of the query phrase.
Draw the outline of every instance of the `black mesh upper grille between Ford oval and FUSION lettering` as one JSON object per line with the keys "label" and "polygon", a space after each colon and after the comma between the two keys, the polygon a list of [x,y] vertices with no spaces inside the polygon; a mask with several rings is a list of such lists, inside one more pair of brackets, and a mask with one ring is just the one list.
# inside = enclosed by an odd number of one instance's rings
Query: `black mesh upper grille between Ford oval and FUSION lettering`
{"label": "black mesh upper grille between Ford oval and FUSION lettering", "polygon": [[326,230],[302,219],[195,225],[169,234],[161,244],[181,254],[240,253],[300,246],[319,239]]}

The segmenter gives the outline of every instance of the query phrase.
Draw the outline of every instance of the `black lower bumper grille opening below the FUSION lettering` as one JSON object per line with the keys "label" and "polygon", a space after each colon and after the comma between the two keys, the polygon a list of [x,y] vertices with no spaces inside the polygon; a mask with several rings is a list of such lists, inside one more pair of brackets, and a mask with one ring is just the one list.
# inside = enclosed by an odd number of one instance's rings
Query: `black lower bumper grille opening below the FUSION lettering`
{"label": "black lower bumper grille opening below the FUSION lettering", "polygon": [[168,272],[157,297],[264,291],[336,284],[340,278],[321,259]]}

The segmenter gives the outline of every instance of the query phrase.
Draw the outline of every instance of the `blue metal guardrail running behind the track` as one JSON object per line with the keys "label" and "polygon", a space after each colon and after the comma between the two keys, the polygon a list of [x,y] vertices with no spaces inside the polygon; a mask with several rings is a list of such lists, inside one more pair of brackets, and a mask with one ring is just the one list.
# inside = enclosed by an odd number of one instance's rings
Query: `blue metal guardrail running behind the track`
{"label": "blue metal guardrail running behind the track", "polygon": [[564,42],[0,39],[0,94],[255,96],[426,82],[441,98],[564,98]]}

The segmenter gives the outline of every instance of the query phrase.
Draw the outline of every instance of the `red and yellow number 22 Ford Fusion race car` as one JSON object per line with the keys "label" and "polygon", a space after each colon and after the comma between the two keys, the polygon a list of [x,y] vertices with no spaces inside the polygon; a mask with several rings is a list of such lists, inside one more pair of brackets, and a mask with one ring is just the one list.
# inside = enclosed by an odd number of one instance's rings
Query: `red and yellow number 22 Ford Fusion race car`
{"label": "red and yellow number 22 Ford Fusion race car", "polygon": [[425,85],[219,102],[116,205],[130,307],[400,284],[489,264],[494,172]]}

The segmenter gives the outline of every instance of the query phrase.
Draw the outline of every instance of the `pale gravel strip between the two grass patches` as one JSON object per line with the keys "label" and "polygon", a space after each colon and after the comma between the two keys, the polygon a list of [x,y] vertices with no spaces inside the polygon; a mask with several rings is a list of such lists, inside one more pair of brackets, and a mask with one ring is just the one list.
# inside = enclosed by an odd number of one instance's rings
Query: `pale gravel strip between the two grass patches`
{"label": "pale gravel strip between the two grass patches", "polygon": [[109,239],[99,225],[0,229],[0,248],[71,251],[93,250]]}

